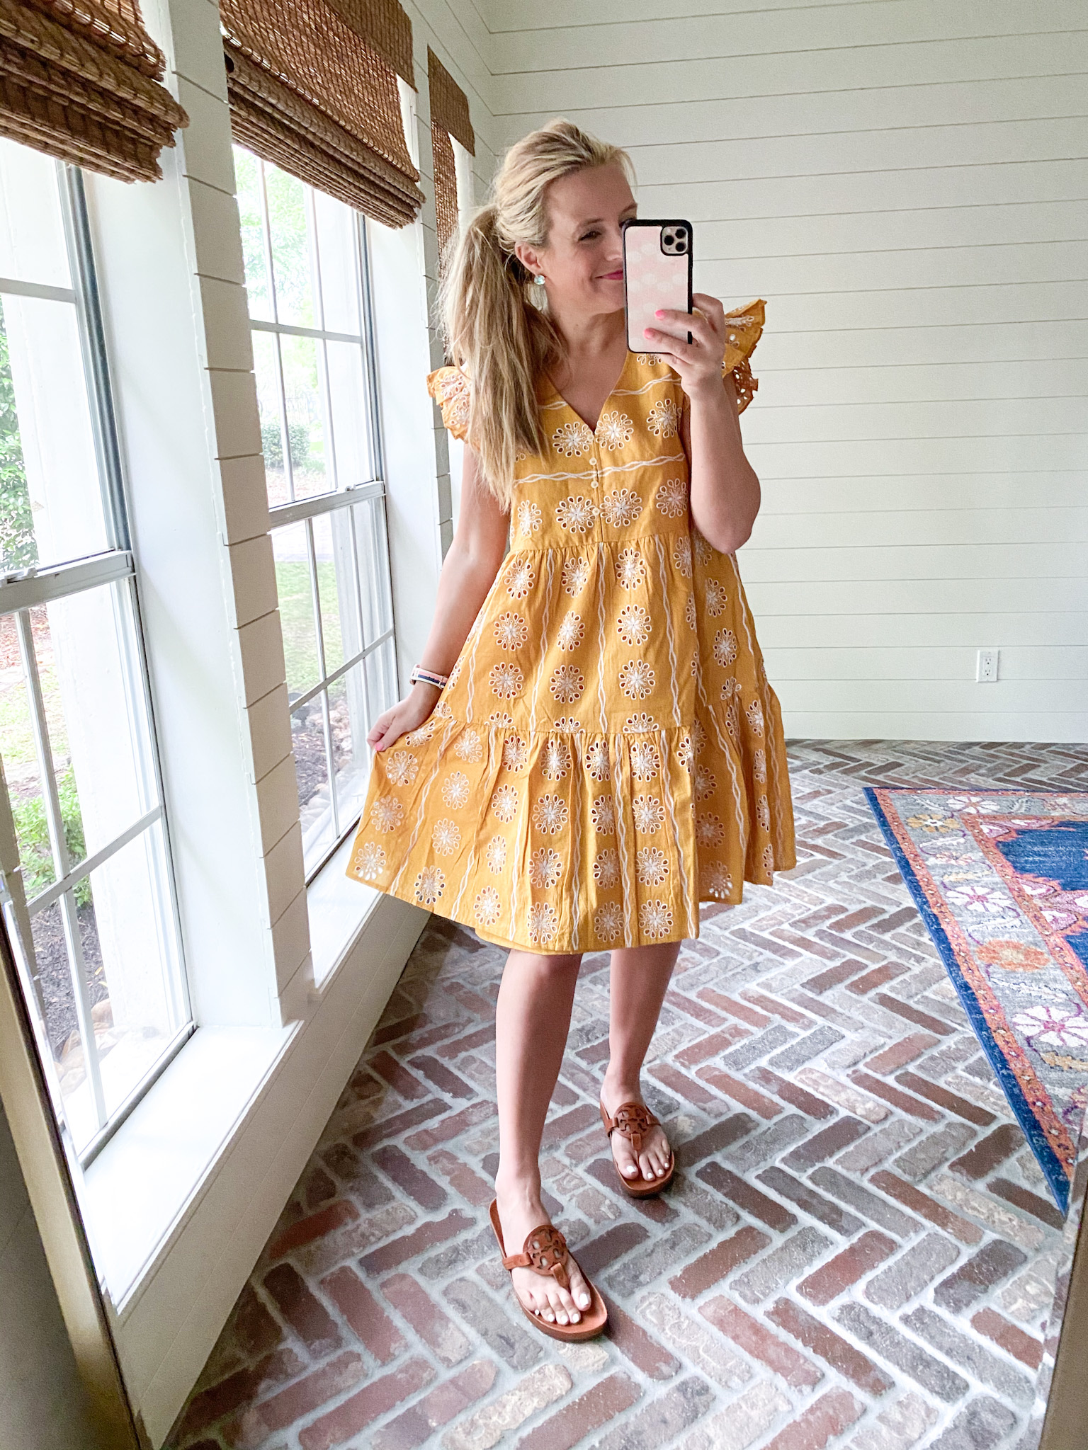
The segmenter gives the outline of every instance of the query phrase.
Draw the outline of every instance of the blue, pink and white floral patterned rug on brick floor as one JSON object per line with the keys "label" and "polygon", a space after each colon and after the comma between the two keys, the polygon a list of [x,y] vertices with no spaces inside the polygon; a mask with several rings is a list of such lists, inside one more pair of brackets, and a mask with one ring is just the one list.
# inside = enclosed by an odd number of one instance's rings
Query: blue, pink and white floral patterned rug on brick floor
{"label": "blue, pink and white floral patterned rug on brick floor", "polygon": [[1088,793],[865,793],[1066,1212],[1088,1103]]}

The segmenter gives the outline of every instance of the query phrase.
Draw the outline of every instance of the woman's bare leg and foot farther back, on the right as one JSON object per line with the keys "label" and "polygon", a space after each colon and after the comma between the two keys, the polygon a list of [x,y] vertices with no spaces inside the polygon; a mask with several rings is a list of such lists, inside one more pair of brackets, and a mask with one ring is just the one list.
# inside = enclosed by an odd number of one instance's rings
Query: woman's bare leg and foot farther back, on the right
{"label": "woman's bare leg and foot farther back, on the right", "polygon": [[[644,1102],[640,1077],[654,1035],[662,1002],[680,954],[679,941],[660,947],[624,947],[612,953],[609,976],[609,1060],[601,1085],[601,1102],[614,1115],[621,1102]],[[631,1140],[611,1137],[612,1157],[624,1177],[660,1177],[669,1167],[669,1140],[662,1128],[650,1128],[635,1159]]]}

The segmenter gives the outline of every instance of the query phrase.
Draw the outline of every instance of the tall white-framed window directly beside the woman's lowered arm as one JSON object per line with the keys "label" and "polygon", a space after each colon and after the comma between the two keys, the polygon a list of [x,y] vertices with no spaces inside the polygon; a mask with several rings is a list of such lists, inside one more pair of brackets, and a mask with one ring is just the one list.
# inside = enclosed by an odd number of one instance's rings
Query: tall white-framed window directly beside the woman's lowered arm
{"label": "tall white-framed window directly beside the woman's lowered arm", "polygon": [[306,874],[358,821],[397,699],[367,222],[235,148]]}

